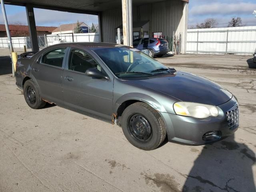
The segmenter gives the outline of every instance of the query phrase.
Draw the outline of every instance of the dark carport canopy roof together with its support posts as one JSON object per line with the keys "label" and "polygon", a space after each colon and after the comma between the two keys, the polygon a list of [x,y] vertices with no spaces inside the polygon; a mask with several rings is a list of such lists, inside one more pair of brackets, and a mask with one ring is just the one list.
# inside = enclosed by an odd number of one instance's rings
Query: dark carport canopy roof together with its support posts
{"label": "dark carport canopy roof together with its support posts", "polygon": [[[93,14],[98,15],[99,18],[102,11],[122,8],[124,44],[132,46],[132,5],[140,6],[162,1],[163,0],[134,0],[133,2],[132,0],[6,0],[4,3],[26,6],[30,39],[32,40],[32,50],[36,51],[39,50],[39,47],[33,8]],[[188,2],[188,0],[182,1]]]}

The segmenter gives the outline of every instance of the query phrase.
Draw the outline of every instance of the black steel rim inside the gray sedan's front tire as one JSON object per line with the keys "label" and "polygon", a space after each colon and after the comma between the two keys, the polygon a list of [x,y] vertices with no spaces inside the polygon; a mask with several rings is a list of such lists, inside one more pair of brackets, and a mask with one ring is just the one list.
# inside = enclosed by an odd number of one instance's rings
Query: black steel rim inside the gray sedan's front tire
{"label": "black steel rim inside the gray sedan's front tire", "polygon": [[134,114],[128,119],[128,131],[139,142],[147,142],[152,136],[148,120],[142,114]]}

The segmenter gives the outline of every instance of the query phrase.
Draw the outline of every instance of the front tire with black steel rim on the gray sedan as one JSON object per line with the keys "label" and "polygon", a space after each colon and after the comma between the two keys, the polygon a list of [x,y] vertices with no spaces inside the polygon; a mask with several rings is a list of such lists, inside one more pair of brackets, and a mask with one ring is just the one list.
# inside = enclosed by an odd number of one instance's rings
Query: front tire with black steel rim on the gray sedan
{"label": "front tire with black steel rim on the gray sedan", "polygon": [[121,126],[127,140],[142,150],[156,149],[166,137],[160,114],[143,102],[136,102],[124,110]]}

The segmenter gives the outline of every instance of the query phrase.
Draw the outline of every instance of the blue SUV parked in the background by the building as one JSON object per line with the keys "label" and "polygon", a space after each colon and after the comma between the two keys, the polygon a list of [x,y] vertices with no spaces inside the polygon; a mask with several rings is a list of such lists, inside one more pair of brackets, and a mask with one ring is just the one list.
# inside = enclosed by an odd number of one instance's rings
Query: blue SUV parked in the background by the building
{"label": "blue SUV parked in the background by the building", "polygon": [[162,57],[169,52],[168,42],[163,38],[140,38],[133,41],[133,47],[138,50],[149,50],[149,56]]}

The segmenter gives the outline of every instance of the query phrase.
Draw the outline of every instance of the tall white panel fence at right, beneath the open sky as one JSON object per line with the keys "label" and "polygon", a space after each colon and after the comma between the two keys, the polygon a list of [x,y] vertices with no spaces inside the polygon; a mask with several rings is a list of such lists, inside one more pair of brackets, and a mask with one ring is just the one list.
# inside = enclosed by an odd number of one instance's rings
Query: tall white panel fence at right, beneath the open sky
{"label": "tall white panel fence at right, beneath the open sky", "polygon": [[253,54],[256,26],[189,29],[186,53]]}

